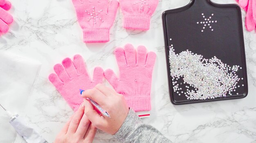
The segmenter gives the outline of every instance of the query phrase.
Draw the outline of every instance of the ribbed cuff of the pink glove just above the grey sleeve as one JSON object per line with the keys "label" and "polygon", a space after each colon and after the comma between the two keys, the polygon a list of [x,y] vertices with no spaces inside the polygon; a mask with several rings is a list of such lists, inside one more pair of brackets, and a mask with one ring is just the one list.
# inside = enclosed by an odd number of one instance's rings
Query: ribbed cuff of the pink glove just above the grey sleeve
{"label": "ribbed cuff of the pink glove just above the grey sleeve", "polygon": [[131,107],[134,111],[150,111],[150,93],[146,94],[126,94],[124,93],[124,98],[128,107]]}

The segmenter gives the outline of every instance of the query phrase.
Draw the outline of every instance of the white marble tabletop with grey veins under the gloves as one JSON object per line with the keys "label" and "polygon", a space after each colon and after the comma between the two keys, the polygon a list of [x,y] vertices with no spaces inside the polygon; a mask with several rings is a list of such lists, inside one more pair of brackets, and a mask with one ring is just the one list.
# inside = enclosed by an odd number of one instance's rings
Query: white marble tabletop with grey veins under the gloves
{"label": "white marble tabletop with grey veins under the gloves", "polygon": [[[145,45],[157,54],[153,72],[152,111],[145,123],[151,124],[175,143],[255,143],[256,142],[256,34],[244,30],[249,95],[240,100],[175,106],[169,101],[162,33],[162,12],[189,3],[189,0],[160,0],[150,30],[146,32],[122,28],[119,10],[108,43],[82,41],[82,30],[76,20],[71,0],[11,0],[14,23],[0,37],[0,50],[35,59],[42,63],[39,77],[21,113],[43,137],[53,142],[73,111],[48,81],[54,64],[65,57],[81,54],[92,74],[93,67],[117,71],[113,51],[132,43]],[[213,0],[226,4],[235,0]],[[243,13],[243,21],[245,12]],[[245,29],[245,28],[244,28]],[[2,113],[2,112],[1,112]],[[21,143],[16,134],[4,135],[11,126],[0,129],[0,142]],[[1,141],[2,139],[2,141]],[[97,132],[94,143],[117,143],[111,135]]]}

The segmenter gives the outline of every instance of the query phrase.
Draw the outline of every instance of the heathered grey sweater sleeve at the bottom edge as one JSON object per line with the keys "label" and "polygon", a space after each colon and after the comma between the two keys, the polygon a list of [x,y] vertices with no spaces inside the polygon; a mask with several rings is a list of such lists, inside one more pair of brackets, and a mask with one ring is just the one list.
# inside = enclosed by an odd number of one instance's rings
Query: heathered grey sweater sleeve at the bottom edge
{"label": "heathered grey sweater sleeve at the bottom edge", "polygon": [[156,128],[144,124],[132,109],[114,137],[120,143],[171,143]]}

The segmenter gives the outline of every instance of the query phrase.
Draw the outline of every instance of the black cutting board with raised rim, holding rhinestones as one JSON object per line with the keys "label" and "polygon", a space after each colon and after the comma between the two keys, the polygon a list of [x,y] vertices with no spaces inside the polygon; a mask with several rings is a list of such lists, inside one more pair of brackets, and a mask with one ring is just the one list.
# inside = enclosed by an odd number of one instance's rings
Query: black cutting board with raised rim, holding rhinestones
{"label": "black cutting board with raised rim, holding rhinestones", "polygon": [[[237,4],[216,4],[210,0],[191,0],[182,8],[164,11],[162,20],[169,93],[173,104],[238,99],[247,96],[243,26],[241,10]],[[236,92],[231,92],[232,95],[206,100],[191,100],[187,99],[184,94],[179,93],[179,95],[176,91],[174,92],[169,64],[169,46],[171,45],[176,54],[189,50],[207,59],[216,56],[227,65],[239,65],[242,69],[239,69],[236,74],[243,79],[238,81],[237,85],[240,85],[240,88],[237,88]],[[182,78],[178,80],[180,80],[178,82],[183,82]],[[182,90],[186,89],[186,85],[180,85]]]}

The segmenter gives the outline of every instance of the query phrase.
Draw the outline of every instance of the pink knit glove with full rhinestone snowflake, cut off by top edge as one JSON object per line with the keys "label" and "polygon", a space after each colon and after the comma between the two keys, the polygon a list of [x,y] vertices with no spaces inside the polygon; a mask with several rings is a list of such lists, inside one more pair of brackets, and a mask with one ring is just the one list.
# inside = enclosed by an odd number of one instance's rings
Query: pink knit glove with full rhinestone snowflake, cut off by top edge
{"label": "pink knit glove with full rhinestone snowflake, cut off by top edge", "polygon": [[119,3],[117,0],[72,0],[78,22],[83,29],[83,40],[108,42]]}

